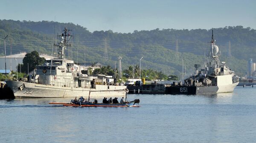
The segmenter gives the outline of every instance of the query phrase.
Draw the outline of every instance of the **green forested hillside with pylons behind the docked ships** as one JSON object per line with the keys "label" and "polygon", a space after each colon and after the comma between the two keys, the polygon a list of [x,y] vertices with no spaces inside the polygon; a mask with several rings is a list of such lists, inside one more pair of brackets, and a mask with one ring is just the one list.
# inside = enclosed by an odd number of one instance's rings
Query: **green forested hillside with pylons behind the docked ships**
{"label": "green forested hillside with pylons behind the docked ships", "polygon": [[[114,33],[113,31],[90,32],[87,28],[73,23],[31,22],[0,20],[0,55],[4,55],[3,39],[6,35],[6,53],[20,51],[56,53],[53,43],[64,26],[73,30],[72,48],[67,49],[67,58],[75,62],[101,62],[118,67],[118,57],[122,57],[122,69],[128,65],[139,64],[142,69],[151,68],[165,74],[182,71],[182,60],[186,73],[191,74],[194,64],[204,64],[204,55],[209,52],[212,36],[211,28],[194,30],[154,29],[134,31],[133,33]],[[256,30],[242,26],[214,28],[216,44],[221,51],[221,61],[243,76],[247,70],[247,60],[256,60]],[[77,58],[78,55],[78,58]],[[85,55],[85,56],[84,56]],[[85,58],[84,58],[85,57]]]}

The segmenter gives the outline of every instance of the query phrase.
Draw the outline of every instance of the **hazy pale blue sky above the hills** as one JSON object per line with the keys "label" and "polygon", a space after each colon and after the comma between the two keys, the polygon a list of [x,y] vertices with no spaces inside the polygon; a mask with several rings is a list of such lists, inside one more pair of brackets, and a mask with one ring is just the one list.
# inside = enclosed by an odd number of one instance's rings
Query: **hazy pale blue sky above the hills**
{"label": "hazy pale blue sky above the hills", "polygon": [[89,31],[256,29],[256,0],[1,0],[0,19],[72,22]]}

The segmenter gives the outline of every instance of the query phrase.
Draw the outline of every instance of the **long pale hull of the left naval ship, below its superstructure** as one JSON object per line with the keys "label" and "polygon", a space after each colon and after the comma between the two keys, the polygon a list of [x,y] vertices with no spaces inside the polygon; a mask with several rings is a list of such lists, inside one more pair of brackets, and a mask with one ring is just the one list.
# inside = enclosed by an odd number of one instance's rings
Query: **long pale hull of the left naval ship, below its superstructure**
{"label": "long pale hull of the left naval ship, below its superstructure", "polygon": [[21,81],[6,81],[15,98],[64,98],[64,97],[123,97],[126,86],[96,85],[96,88],[58,87]]}

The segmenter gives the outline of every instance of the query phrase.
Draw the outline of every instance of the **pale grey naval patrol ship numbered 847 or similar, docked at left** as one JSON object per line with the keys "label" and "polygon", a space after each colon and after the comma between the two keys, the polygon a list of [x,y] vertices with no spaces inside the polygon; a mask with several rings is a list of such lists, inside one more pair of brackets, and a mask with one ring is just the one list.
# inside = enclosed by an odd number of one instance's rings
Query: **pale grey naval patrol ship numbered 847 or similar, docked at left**
{"label": "pale grey naval patrol ship numbered 847 or similar, docked at left", "polygon": [[109,85],[105,75],[82,74],[79,65],[65,59],[64,50],[71,47],[71,31],[65,27],[63,33],[58,35],[60,42],[55,45],[58,47],[58,58],[38,65],[32,83],[6,81],[15,98],[59,98],[89,94],[92,98],[125,96],[126,86]]}

